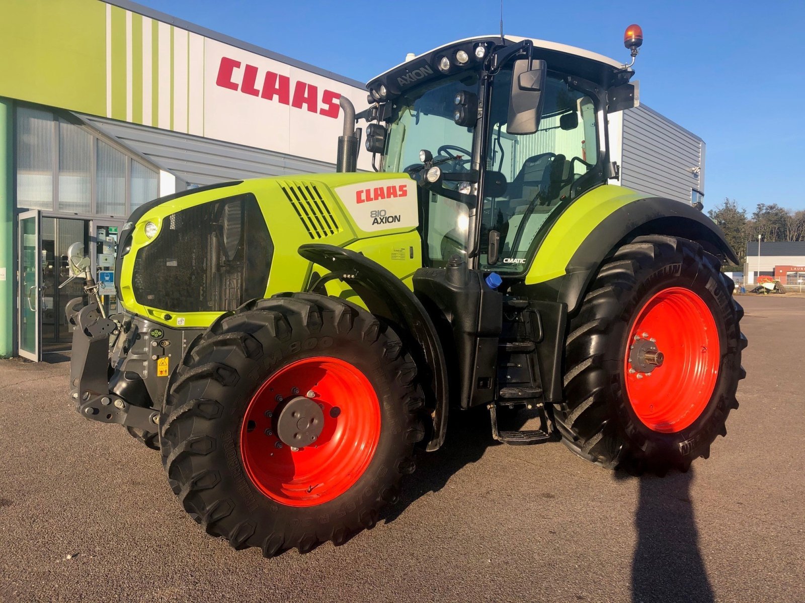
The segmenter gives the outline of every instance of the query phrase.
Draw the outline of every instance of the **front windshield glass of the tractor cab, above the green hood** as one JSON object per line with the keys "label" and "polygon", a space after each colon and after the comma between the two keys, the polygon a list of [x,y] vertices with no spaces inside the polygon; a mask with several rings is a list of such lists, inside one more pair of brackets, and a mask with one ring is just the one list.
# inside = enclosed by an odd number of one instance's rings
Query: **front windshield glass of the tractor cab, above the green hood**
{"label": "front windshield glass of the tractor cab, above the green hood", "polygon": [[422,166],[419,151],[427,149],[434,162],[445,160],[445,172],[469,171],[474,127],[453,121],[457,92],[478,92],[476,73],[461,73],[414,88],[394,100],[382,171],[400,172]]}

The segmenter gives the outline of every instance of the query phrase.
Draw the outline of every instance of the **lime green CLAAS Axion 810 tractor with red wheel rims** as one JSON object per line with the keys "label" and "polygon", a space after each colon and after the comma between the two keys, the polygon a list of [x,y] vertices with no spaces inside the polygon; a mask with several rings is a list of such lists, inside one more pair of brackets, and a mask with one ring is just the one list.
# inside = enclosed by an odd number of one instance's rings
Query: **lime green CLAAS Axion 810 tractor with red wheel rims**
{"label": "lime green CLAAS Axion 810 tractor with red wheel rims", "polygon": [[[78,411],[159,448],[192,518],[266,556],[373,527],[471,408],[504,444],[687,470],[745,375],[720,272],[737,257],[700,211],[608,183],[607,115],[635,105],[633,75],[463,39],[371,80],[357,116],[341,100],[339,173],[138,207],[125,310],[105,317],[89,274],[67,307]],[[374,172],[355,169],[361,118]]]}

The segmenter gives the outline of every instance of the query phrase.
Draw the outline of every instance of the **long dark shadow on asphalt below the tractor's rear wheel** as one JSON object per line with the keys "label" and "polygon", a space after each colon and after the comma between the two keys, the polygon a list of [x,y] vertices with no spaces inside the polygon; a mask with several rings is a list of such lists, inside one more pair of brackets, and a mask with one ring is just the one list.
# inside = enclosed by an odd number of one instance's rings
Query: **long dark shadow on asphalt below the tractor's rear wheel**
{"label": "long dark shadow on asphalt below the tractor's rear wheel", "polygon": [[632,601],[716,601],[699,549],[691,502],[693,470],[665,478],[632,478],[618,472],[615,479],[640,482],[634,517],[637,544],[632,558]]}

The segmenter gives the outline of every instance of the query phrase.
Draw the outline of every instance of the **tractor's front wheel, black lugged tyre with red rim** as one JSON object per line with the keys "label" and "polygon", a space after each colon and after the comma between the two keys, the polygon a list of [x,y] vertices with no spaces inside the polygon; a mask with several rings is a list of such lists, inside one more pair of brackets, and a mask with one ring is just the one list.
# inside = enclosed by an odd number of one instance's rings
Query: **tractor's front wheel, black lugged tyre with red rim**
{"label": "tractor's front wheel, black lugged tyre with red rim", "polygon": [[414,470],[423,400],[411,355],[368,311],[312,293],[250,301],[172,379],[163,466],[184,509],[233,548],[344,544]]}

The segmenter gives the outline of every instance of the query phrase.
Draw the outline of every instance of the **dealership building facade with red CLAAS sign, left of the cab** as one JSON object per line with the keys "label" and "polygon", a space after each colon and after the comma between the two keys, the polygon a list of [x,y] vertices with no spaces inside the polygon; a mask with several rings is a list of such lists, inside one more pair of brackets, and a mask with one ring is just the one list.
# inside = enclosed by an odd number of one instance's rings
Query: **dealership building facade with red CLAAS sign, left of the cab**
{"label": "dealership building facade with red CLAAS sign, left of the cab", "polygon": [[0,51],[0,357],[69,348],[71,244],[109,279],[114,310],[130,211],[226,179],[332,171],[339,99],[366,103],[361,82],[126,0],[10,0]]}

